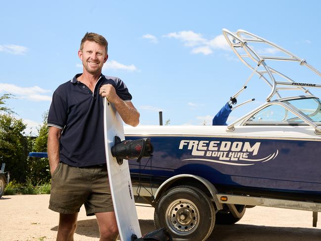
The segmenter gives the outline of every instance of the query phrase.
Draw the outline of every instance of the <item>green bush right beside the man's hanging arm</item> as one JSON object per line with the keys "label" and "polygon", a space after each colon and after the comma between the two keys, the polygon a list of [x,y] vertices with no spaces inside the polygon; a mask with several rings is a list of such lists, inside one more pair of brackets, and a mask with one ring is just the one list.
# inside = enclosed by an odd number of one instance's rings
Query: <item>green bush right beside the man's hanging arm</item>
{"label": "green bush right beside the man's hanging arm", "polygon": [[[38,129],[38,137],[34,140],[33,152],[46,152],[48,139],[47,126],[48,112],[43,114],[43,124]],[[28,157],[27,178],[32,180],[33,185],[45,184],[50,180],[48,158]]]}

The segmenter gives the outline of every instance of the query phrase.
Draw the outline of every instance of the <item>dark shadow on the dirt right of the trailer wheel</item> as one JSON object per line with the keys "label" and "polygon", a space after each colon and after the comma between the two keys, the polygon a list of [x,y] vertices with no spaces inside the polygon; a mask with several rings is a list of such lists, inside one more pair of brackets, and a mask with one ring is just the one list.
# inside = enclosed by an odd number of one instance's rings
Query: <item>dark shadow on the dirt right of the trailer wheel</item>
{"label": "dark shadow on the dirt right of the trailer wheel", "polygon": [[247,224],[215,225],[208,241],[320,241],[314,228],[270,227]]}

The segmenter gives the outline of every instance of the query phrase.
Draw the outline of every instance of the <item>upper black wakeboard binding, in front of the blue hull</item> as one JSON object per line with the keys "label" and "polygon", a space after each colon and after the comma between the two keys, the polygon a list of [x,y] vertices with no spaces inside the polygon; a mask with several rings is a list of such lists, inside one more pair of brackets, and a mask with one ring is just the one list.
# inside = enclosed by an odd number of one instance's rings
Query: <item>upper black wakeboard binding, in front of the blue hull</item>
{"label": "upper black wakeboard binding, in front of the blue hull", "polygon": [[115,136],[115,145],[111,147],[111,154],[116,157],[117,163],[121,165],[123,159],[137,159],[137,162],[139,162],[141,158],[151,157],[153,150],[150,138],[121,141],[118,136]]}

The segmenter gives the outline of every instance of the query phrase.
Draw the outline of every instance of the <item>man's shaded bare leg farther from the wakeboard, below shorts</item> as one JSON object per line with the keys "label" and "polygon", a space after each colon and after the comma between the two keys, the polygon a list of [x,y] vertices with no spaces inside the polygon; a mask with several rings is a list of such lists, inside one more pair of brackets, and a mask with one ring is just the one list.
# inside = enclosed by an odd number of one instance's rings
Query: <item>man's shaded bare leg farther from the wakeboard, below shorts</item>
{"label": "man's shaded bare leg farther from the wakeboard, below shorts", "polygon": [[63,214],[59,216],[57,241],[73,241],[77,227],[78,213]]}

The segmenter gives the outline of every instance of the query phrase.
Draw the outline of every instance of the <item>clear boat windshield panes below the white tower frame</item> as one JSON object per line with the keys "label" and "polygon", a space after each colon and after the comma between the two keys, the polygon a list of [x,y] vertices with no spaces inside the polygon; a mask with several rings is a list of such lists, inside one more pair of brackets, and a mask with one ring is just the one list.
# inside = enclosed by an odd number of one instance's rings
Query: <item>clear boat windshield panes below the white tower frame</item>
{"label": "clear boat windshield panes below the white tower frame", "polygon": [[[291,100],[283,100],[289,105],[293,105],[306,116],[310,117],[313,122],[321,122],[321,102],[319,98],[299,98]],[[278,104],[272,104],[266,108],[256,112],[246,124],[255,123],[303,123],[304,121],[298,116],[294,115],[289,110]]]}

